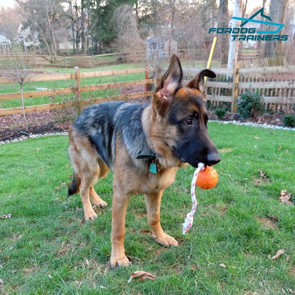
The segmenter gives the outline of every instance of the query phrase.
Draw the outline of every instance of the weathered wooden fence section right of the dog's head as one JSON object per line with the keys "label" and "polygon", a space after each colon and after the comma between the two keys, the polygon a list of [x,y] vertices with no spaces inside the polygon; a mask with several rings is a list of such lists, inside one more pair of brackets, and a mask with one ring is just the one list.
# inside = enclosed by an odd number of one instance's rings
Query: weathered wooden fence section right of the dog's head
{"label": "weathered wooden fence section right of the dog's head", "polygon": [[[201,69],[184,69],[187,79]],[[295,65],[234,69],[212,68],[216,79],[207,81],[207,100],[212,105],[231,105],[236,113],[236,102],[246,89],[257,91],[263,97],[266,109],[290,112],[295,106]]]}

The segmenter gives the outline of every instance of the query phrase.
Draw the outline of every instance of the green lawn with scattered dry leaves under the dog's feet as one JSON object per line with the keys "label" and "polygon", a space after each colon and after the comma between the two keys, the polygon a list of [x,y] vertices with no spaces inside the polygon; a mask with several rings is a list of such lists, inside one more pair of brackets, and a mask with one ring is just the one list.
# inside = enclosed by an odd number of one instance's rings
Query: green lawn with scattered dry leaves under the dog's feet
{"label": "green lawn with scattered dry leaves under the dog's feet", "polygon": [[[125,239],[133,264],[116,270],[109,267],[112,174],[96,184],[109,206],[84,223],[80,197],[66,197],[66,136],[0,146],[0,215],[12,214],[0,218],[0,294],[294,294],[295,206],[279,197],[286,189],[294,200],[295,133],[217,122],[208,129],[222,157],[219,182],[197,189],[193,227],[181,235],[191,208],[187,167],[161,207],[162,226],[180,246],[153,240],[144,198],[134,197]],[[156,278],[128,284],[136,270]]]}

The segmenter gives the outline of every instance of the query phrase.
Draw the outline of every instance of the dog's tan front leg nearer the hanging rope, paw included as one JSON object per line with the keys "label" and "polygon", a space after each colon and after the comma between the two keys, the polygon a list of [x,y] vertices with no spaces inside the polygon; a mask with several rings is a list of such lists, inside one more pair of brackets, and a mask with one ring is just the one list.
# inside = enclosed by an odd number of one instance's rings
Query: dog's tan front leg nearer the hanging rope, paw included
{"label": "dog's tan front leg nearer the hanging rope, paw included", "polygon": [[160,205],[162,195],[163,190],[154,194],[145,195],[148,211],[148,224],[151,228],[152,235],[159,244],[165,247],[178,246],[177,240],[172,236],[165,234],[160,224]]}

